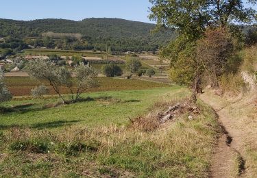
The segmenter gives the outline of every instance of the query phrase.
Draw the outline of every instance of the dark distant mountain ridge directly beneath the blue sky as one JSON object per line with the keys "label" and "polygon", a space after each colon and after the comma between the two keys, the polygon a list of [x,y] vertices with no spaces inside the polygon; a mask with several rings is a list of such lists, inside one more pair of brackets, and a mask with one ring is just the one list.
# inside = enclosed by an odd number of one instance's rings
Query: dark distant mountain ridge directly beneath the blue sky
{"label": "dark distant mountain ridge directly beneath the blue sky", "polygon": [[86,18],[82,21],[41,19],[14,21],[0,18],[0,37],[41,37],[43,32],[82,34],[90,44],[103,48],[106,44],[117,51],[156,50],[167,44],[175,33],[171,30],[152,34],[155,25],[120,18]]}

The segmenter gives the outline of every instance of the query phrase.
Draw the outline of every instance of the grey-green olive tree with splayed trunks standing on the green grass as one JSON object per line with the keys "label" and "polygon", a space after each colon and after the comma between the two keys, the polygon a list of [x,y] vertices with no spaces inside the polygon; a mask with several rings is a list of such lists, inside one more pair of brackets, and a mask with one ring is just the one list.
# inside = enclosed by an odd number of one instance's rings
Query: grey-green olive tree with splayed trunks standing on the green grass
{"label": "grey-green olive tree with splayed trunks standing on the green grass", "polygon": [[[63,103],[75,103],[80,94],[86,88],[97,86],[97,73],[91,67],[80,65],[75,66],[71,71],[64,66],[56,66],[49,60],[31,60],[27,64],[27,72],[35,79],[48,81],[53,90],[58,94]],[[72,74],[74,77],[72,77]],[[66,101],[62,95],[60,88],[68,88],[71,93],[71,101]]]}

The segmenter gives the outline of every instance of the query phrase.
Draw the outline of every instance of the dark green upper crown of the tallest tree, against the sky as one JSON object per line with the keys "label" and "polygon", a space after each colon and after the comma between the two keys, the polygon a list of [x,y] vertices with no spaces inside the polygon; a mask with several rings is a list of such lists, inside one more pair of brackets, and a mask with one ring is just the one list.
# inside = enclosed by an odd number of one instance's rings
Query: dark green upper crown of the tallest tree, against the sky
{"label": "dark green upper crown of the tallest tree, against the sky", "polygon": [[[238,0],[149,0],[149,18],[157,21],[157,27],[176,29],[188,39],[197,39],[206,27],[227,26],[231,22],[250,23],[256,21],[256,10],[244,8],[243,1]],[[255,4],[256,0],[249,0]]]}

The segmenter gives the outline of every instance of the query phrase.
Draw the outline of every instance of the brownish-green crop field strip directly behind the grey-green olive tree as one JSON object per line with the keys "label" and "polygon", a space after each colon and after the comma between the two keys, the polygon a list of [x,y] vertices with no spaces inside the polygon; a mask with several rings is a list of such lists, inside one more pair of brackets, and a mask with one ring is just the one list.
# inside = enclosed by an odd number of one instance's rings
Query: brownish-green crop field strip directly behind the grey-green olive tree
{"label": "brownish-green crop field strip directly behind the grey-green olive tree", "polygon": [[[167,84],[157,84],[151,81],[140,81],[136,79],[121,79],[110,77],[98,77],[98,88],[90,88],[85,92],[109,91],[109,90],[138,90],[146,88],[169,87]],[[6,77],[7,86],[14,96],[30,95],[32,88],[39,86],[42,82],[31,79],[30,77]],[[49,86],[47,82],[43,82]],[[50,94],[55,94],[50,87]],[[69,92],[66,88],[62,88],[62,93]]]}

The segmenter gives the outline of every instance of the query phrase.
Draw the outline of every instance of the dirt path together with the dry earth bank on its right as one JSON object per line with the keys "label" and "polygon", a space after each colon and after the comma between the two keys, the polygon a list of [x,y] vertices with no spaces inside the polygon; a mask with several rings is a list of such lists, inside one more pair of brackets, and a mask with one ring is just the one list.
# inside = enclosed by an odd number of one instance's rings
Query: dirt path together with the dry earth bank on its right
{"label": "dirt path together with the dry earth bank on its right", "polygon": [[219,115],[224,134],[215,151],[211,177],[257,177],[257,108],[255,92],[232,97],[218,97],[212,91],[201,100]]}

